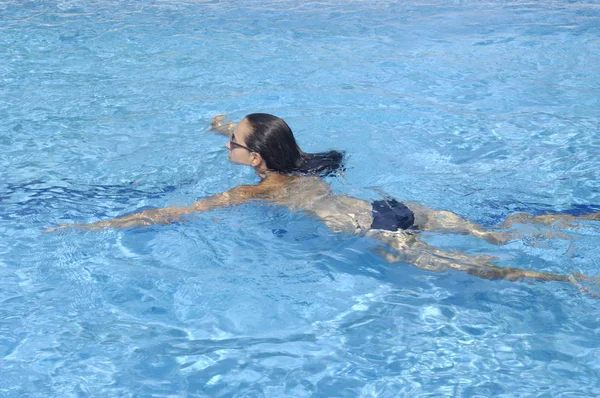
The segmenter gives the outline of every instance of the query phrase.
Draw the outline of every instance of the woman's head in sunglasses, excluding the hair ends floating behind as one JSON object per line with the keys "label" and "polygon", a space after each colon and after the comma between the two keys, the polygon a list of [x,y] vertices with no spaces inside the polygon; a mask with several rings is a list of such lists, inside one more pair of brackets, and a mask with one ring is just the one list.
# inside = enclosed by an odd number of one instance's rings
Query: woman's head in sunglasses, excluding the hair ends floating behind
{"label": "woman's head in sunglasses, excluding the hair ends floating behind", "polygon": [[227,148],[233,162],[257,167],[264,160],[267,170],[280,173],[296,171],[304,162],[287,123],[266,113],[252,113],[242,119]]}

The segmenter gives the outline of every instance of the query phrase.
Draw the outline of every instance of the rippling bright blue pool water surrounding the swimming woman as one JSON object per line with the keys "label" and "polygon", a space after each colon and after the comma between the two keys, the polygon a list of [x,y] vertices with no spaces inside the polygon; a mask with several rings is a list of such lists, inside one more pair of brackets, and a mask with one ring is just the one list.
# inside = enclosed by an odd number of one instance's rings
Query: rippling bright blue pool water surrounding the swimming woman
{"label": "rippling bright blue pool water surrounding the swimming woman", "polygon": [[[5,1],[0,16],[0,396],[600,395],[600,301],[566,284],[388,264],[269,206],[40,233],[257,182],[208,131],[217,113],[273,113],[305,151],[347,151],[331,183],[360,198],[486,225],[598,209],[597,1]],[[600,224],[555,229],[567,239],[426,240],[600,276]]]}

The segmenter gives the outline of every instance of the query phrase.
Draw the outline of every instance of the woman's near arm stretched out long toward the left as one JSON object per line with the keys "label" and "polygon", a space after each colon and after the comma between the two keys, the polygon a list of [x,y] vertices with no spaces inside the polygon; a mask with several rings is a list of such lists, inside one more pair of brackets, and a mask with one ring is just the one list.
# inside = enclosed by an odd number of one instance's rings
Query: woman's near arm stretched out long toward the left
{"label": "woman's near arm stretched out long toward the left", "polygon": [[62,224],[42,232],[53,232],[63,228],[77,228],[84,231],[106,228],[129,228],[153,224],[170,224],[180,221],[187,214],[200,213],[219,207],[237,206],[254,199],[268,199],[269,184],[241,185],[227,192],[209,196],[186,207],[164,207],[162,209],[144,210],[112,220],[99,221],[90,224]]}

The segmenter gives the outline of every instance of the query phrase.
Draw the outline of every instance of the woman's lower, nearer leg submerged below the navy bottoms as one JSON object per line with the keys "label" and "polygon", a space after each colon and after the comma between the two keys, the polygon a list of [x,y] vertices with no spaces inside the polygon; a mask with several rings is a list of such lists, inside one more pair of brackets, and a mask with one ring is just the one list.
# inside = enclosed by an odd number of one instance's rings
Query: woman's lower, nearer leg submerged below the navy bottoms
{"label": "woman's lower, nearer leg submerged below the navy bottoms", "polygon": [[406,262],[435,272],[454,269],[484,279],[518,281],[528,278],[539,281],[575,283],[571,276],[499,267],[490,264],[490,261],[494,259],[491,256],[473,256],[458,251],[445,252],[422,242],[415,235],[379,232],[372,236],[396,251],[396,253],[387,251],[379,253],[389,262]]}

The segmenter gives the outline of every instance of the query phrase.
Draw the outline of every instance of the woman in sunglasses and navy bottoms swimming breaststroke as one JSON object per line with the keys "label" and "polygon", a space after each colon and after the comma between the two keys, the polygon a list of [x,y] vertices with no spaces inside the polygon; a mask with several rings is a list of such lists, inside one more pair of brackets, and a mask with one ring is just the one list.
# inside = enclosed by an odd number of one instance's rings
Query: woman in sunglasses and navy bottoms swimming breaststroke
{"label": "woman in sunglasses and navy bottoms swimming breaststroke", "polygon": [[[343,170],[343,154],[337,151],[309,154],[297,145],[290,127],[282,119],[264,113],[247,115],[237,125],[224,123],[225,116],[212,120],[212,130],[229,137],[225,145],[229,160],[253,167],[260,178],[256,185],[241,185],[227,192],[200,199],[187,207],[165,207],[117,217],[91,224],[63,224],[46,231],[74,227],[81,230],[130,228],[152,224],[169,224],[183,216],[206,212],[219,207],[236,206],[251,201],[264,201],[285,206],[321,220],[335,232],[357,234],[382,242],[379,253],[389,262],[406,262],[430,271],[458,270],[485,279],[517,281],[571,282],[579,286],[579,274],[555,275],[491,264],[490,256],[443,251],[425,243],[422,231],[468,234],[495,245],[503,245],[519,237],[506,231],[516,223],[550,225],[557,221],[600,220],[600,212],[583,216],[546,214],[530,216],[524,213],[509,217],[498,230],[465,220],[443,210],[387,198],[373,203],[338,195],[321,177]],[[502,230],[504,229],[504,230]],[[548,234],[549,235],[549,234]]]}

